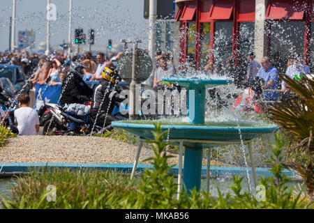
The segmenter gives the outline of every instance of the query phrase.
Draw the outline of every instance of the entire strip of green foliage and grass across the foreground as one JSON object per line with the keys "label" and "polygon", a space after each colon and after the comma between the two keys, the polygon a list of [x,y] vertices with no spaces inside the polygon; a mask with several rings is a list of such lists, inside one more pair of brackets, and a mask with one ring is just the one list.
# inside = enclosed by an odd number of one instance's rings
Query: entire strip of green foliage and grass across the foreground
{"label": "entire strip of green foliage and grass across the foreground", "polygon": [[[32,171],[31,175],[19,178],[13,187],[13,197],[3,200],[4,208],[313,208],[313,204],[301,199],[300,194],[294,197],[292,189],[285,186],[286,168],[281,156],[283,142],[277,134],[276,144],[271,157],[273,177],[261,178],[260,186],[264,187],[262,199],[250,192],[242,192],[241,182],[244,179],[234,176],[232,194],[212,197],[208,192],[190,194],[184,190],[177,199],[177,183],[170,174],[171,166],[164,153],[163,139],[167,132],[161,132],[160,124],[156,125],[154,137],[154,157],[149,158],[154,168],[146,169],[142,178],[130,180],[126,174],[117,172],[70,171],[69,169],[43,169]],[[47,185],[57,188],[57,200],[47,201]],[[260,192],[259,192],[260,193]]]}

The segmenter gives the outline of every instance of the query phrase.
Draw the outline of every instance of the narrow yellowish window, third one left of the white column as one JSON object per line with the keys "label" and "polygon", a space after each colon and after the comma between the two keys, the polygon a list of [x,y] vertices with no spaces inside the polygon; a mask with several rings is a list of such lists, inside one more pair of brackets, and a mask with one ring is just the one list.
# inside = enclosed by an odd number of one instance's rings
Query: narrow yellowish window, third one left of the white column
{"label": "narrow yellowish window, third one left of the white column", "polygon": [[202,70],[204,66],[209,63],[210,53],[211,53],[211,23],[203,23],[203,31],[201,38],[201,50],[200,50],[200,69]]}

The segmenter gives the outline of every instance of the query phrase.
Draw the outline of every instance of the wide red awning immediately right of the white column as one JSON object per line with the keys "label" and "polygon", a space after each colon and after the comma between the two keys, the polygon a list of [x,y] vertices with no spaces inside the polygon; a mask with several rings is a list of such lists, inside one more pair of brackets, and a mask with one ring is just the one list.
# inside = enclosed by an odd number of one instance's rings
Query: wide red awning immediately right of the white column
{"label": "wide red awning immediately right of the white column", "polygon": [[304,0],[271,0],[267,6],[266,18],[269,20],[303,20]]}

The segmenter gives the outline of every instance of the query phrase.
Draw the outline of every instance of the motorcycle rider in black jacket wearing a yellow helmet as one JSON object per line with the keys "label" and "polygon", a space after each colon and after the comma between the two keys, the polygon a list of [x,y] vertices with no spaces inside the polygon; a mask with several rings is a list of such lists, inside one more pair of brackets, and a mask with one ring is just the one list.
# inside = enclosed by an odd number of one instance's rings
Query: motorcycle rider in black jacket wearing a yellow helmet
{"label": "motorcycle rider in black jacket wearing a yellow helmet", "polygon": [[111,114],[114,109],[114,102],[124,100],[120,99],[116,89],[117,82],[121,80],[121,77],[117,75],[114,68],[105,68],[102,75],[103,79],[99,80],[91,99],[91,117],[94,120],[97,118],[97,124],[105,126],[105,130],[111,130],[111,122],[117,121],[117,118]]}

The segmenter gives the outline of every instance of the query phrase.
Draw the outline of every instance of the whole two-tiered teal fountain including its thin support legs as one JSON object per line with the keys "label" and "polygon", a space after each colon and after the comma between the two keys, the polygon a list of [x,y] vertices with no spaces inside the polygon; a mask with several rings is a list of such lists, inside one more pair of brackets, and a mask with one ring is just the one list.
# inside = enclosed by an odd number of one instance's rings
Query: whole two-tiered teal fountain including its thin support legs
{"label": "whole two-tiered teal fountain including its thin support legs", "polygon": [[[163,130],[170,130],[170,139],[167,141],[171,143],[179,142],[180,156],[179,156],[179,187],[181,179],[181,153],[182,147],[185,146],[184,155],[184,183],[186,190],[200,190],[201,171],[202,171],[202,148],[204,146],[214,147],[227,144],[243,144],[262,134],[274,132],[276,126],[213,126],[205,123],[205,95],[206,88],[231,84],[230,79],[189,79],[179,77],[163,77],[163,81],[177,83],[188,89],[188,114],[186,123],[163,124]],[[154,130],[153,123],[156,121],[115,121],[112,122],[114,128],[121,128],[133,134],[140,136],[142,141],[146,139],[154,139],[152,131]],[[239,136],[239,131],[241,135]],[[134,176],[137,166],[140,148],[142,146],[140,141],[133,172],[131,178]],[[253,160],[253,153],[251,146],[248,146],[252,170],[254,176],[255,187],[257,186],[257,176],[255,172],[255,164]],[[209,169],[207,169],[209,173]],[[178,191],[181,190],[178,189]]]}

